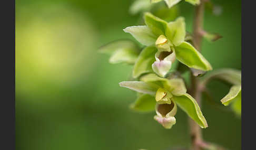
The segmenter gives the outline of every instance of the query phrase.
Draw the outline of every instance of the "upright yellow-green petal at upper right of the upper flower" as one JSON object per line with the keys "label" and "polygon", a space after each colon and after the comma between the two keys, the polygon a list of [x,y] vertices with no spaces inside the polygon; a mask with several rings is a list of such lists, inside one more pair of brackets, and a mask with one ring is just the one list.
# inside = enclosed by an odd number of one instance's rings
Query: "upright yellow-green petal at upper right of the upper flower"
{"label": "upright yellow-green petal at upper right of the upper flower", "polygon": [[169,29],[166,30],[165,34],[175,46],[179,46],[185,40],[186,27],[184,20],[184,17],[179,17],[174,22],[168,23]]}

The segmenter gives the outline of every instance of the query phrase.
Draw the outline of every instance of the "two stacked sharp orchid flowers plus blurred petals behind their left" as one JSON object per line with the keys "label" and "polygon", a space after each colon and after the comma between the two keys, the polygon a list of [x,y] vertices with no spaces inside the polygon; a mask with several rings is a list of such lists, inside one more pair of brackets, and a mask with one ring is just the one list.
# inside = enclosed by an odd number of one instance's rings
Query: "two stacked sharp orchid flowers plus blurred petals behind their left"
{"label": "two stacked sharp orchid flowers plus blurred petals behind their left", "polygon": [[154,119],[165,128],[171,128],[176,123],[175,114],[180,108],[199,126],[208,127],[198,103],[186,93],[183,79],[172,76],[170,72],[175,60],[193,70],[212,70],[201,53],[185,41],[184,18],[179,17],[168,23],[145,13],[144,20],[144,26],[124,29],[145,46],[143,49],[131,40],[119,40],[100,50],[112,55],[111,63],[134,64],[132,76],[135,81],[120,82],[121,87],[139,93],[131,108],[137,111],[155,110]]}

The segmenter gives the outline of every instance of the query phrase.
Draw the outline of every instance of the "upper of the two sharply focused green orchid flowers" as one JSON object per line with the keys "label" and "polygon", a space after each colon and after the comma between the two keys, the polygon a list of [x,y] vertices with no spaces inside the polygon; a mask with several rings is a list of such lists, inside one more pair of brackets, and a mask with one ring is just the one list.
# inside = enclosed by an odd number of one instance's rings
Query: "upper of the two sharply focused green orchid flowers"
{"label": "upper of the two sharply focused green orchid flowers", "polygon": [[[164,77],[171,69],[172,63],[177,58],[184,65],[201,71],[212,70],[210,63],[191,44],[185,40],[185,22],[183,17],[177,18],[174,22],[165,22],[151,13],[144,14],[146,26],[131,26],[124,29],[137,41],[145,46],[155,45],[155,60],[152,57],[153,50],[139,56],[140,60],[135,63],[133,77],[137,78],[142,73],[154,71],[160,77]],[[150,55],[150,52],[151,55]],[[139,63],[139,64],[137,64]],[[137,66],[140,66],[138,69]],[[152,69],[151,69],[152,68]],[[139,71],[141,70],[141,71]]]}

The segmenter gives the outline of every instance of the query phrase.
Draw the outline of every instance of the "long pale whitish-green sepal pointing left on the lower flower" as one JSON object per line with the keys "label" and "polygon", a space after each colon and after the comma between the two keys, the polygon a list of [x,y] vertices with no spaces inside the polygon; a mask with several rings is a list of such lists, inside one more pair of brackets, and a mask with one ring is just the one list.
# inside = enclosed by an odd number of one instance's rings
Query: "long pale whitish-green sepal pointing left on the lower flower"
{"label": "long pale whitish-green sepal pointing left on the lower flower", "polygon": [[140,93],[145,93],[145,94],[150,94],[150,95],[155,95],[157,89],[159,89],[159,85],[153,84],[153,83],[147,83],[143,81],[122,81],[119,83],[120,87],[125,87],[129,88],[131,90],[140,92]]}

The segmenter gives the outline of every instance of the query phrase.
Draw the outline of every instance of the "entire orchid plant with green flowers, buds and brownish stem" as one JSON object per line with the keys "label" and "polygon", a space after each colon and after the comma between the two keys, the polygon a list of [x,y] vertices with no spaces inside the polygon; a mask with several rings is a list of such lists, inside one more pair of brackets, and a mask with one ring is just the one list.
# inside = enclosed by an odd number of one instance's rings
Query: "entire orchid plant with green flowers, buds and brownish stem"
{"label": "entire orchid plant with green flowers, buds and brownish stem", "polygon": [[[139,5],[137,1],[134,4]],[[160,1],[151,0],[151,3]],[[164,1],[172,9],[171,7],[181,0]],[[197,5],[196,9],[203,10],[204,1],[201,3],[199,0],[185,1]],[[143,8],[142,5],[139,7]],[[196,12],[195,18],[202,17],[203,11]],[[201,98],[198,95],[207,89],[208,82],[220,79],[232,85],[230,92],[223,97],[221,103],[225,106],[231,104],[232,110],[241,116],[241,71],[234,69],[211,71],[210,62],[200,53],[201,38],[215,41],[221,36],[204,31],[200,19],[195,19],[193,34],[188,34],[186,31],[184,17],[166,22],[150,12],[145,12],[143,19],[145,25],[123,29],[143,47],[132,40],[117,40],[100,48],[100,52],[111,55],[110,63],[134,65],[133,80],[119,83],[121,87],[137,92],[137,99],[130,105],[131,109],[140,112],[155,111],[153,118],[168,129],[176,123],[175,114],[177,109],[181,109],[188,114],[193,123],[206,128],[208,123],[200,109]],[[178,63],[179,67],[173,67],[174,63]],[[190,87],[185,84],[181,76],[183,73],[181,68],[191,72]],[[210,72],[204,77],[200,76],[208,71]],[[194,127],[191,133],[196,136],[195,141],[192,141],[193,149],[214,147],[202,140],[200,133],[197,133],[201,130],[196,129],[193,124],[191,126]]]}

